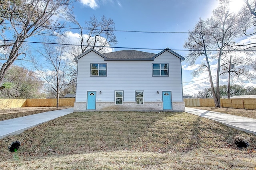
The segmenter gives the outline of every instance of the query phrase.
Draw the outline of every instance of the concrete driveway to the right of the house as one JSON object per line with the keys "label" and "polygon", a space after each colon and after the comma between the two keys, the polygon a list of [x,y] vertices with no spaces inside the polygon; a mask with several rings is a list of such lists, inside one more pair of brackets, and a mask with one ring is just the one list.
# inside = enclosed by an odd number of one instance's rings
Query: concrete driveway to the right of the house
{"label": "concrete driveway to the right of the house", "polygon": [[251,119],[251,118],[241,117],[241,116],[236,116],[236,115],[230,115],[230,114],[226,114],[226,113],[219,113],[219,112],[215,112],[215,111],[194,109],[194,108],[190,108],[190,107],[186,107],[185,109],[186,109],[187,113],[191,113],[194,115],[212,119],[214,121],[218,121],[218,122],[220,122],[224,125],[227,125],[229,127],[233,127],[235,129],[238,129],[241,131],[256,134],[256,119]]}

